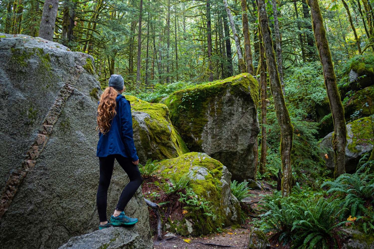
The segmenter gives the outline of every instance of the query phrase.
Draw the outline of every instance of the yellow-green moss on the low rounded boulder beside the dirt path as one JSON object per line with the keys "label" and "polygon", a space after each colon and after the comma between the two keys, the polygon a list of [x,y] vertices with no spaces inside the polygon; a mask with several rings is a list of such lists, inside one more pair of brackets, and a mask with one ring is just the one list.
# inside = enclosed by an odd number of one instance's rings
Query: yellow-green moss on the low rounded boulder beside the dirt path
{"label": "yellow-green moss on the low rounded boulder beside the dirt path", "polygon": [[[189,211],[185,218],[193,221],[194,235],[216,232],[217,228],[221,227],[222,223],[225,222],[224,219],[227,216],[224,209],[227,203],[221,203],[222,183],[220,180],[223,174],[223,165],[205,153],[190,152],[178,158],[163,160],[160,162],[160,166],[161,174],[165,178],[173,175],[176,180],[179,180],[184,174],[190,173],[191,178],[194,179],[190,180],[188,187],[192,188],[198,198],[205,198],[211,202],[211,209],[214,210],[216,215],[215,219],[203,215],[196,209],[188,209]],[[197,176],[199,172],[201,174]],[[206,175],[202,177],[203,174]],[[185,224],[185,221],[183,220],[180,224]],[[183,233],[184,235],[188,235],[186,228],[181,228],[182,231],[185,232]]]}

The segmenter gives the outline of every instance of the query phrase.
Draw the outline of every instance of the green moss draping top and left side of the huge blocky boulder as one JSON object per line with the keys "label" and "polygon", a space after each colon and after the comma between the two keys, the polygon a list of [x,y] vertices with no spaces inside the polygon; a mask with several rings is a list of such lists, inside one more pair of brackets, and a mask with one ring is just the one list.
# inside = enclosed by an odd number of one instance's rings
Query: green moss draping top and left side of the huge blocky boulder
{"label": "green moss draping top and left side of the huge blocky boulder", "polygon": [[248,102],[258,103],[258,82],[247,73],[180,90],[165,100],[170,119],[177,125],[188,149],[202,151],[201,134],[208,122],[206,117],[222,112],[223,96],[227,91]]}

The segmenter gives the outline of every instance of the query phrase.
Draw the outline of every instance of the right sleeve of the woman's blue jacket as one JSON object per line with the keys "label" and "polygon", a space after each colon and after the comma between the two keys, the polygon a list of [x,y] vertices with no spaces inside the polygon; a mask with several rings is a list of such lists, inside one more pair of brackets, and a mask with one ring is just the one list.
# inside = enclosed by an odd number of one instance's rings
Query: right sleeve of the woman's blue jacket
{"label": "right sleeve of the woman's blue jacket", "polygon": [[126,150],[131,156],[131,160],[135,162],[139,158],[137,155],[137,150],[135,149],[134,138],[132,137],[131,108],[125,98],[121,98],[119,101],[119,104],[120,104],[119,115],[121,119],[121,128],[122,128],[122,141],[125,144]]}

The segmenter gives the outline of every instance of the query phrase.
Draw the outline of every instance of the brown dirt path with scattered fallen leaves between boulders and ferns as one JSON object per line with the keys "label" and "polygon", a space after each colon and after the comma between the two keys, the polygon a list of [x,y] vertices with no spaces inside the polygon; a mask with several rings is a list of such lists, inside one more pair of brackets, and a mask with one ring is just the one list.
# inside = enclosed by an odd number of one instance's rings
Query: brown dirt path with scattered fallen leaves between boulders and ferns
{"label": "brown dirt path with scattered fallen leaves between boulders and ferns", "polygon": [[[265,186],[269,187],[269,186]],[[253,209],[257,209],[257,203],[262,199],[261,194],[271,194],[272,189],[269,190],[250,190],[250,193],[254,196],[250,197],[250,200],[246,200],[247,203]],[[249,232],[251,225],[249,224],[251,220],[247,220],[246,224],[242,227],[226,227],[223,229],[222,233],[212,233],[206,236],[199,237],[165,237],[162,240],[157,240],[156,236],[153,239],[154,249],[223,249],[223,248],[238,248],[246,249],[249,242]],[[246,228],[243,228],[246,227]],[[247,229],[248,228],[248,229]],[[165,233],[165,232],[164,232]],[[165,234],[163,234],[165,235]],[[189,243],[185,242],[188,240]],[[278,248],[276,243],[272,243],[272,248]]]}

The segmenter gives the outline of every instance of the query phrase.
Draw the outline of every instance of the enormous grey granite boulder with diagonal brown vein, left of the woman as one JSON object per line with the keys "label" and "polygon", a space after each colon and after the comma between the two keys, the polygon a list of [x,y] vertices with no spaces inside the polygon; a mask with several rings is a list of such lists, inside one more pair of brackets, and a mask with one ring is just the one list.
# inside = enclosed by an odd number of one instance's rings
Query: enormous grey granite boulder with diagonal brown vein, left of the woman
{"label": "enormous grey granite boulder with diagonal brown vein, left of the woman", "polygon": [[[7,37],[0,40],[0,245],[59,248],[98,229],[101,88],[93,57],[37,37]],[[128,181],[115,165],[108,217]],[[139,218],[135,228],[152,245],[141,189],[125,212]]]}

